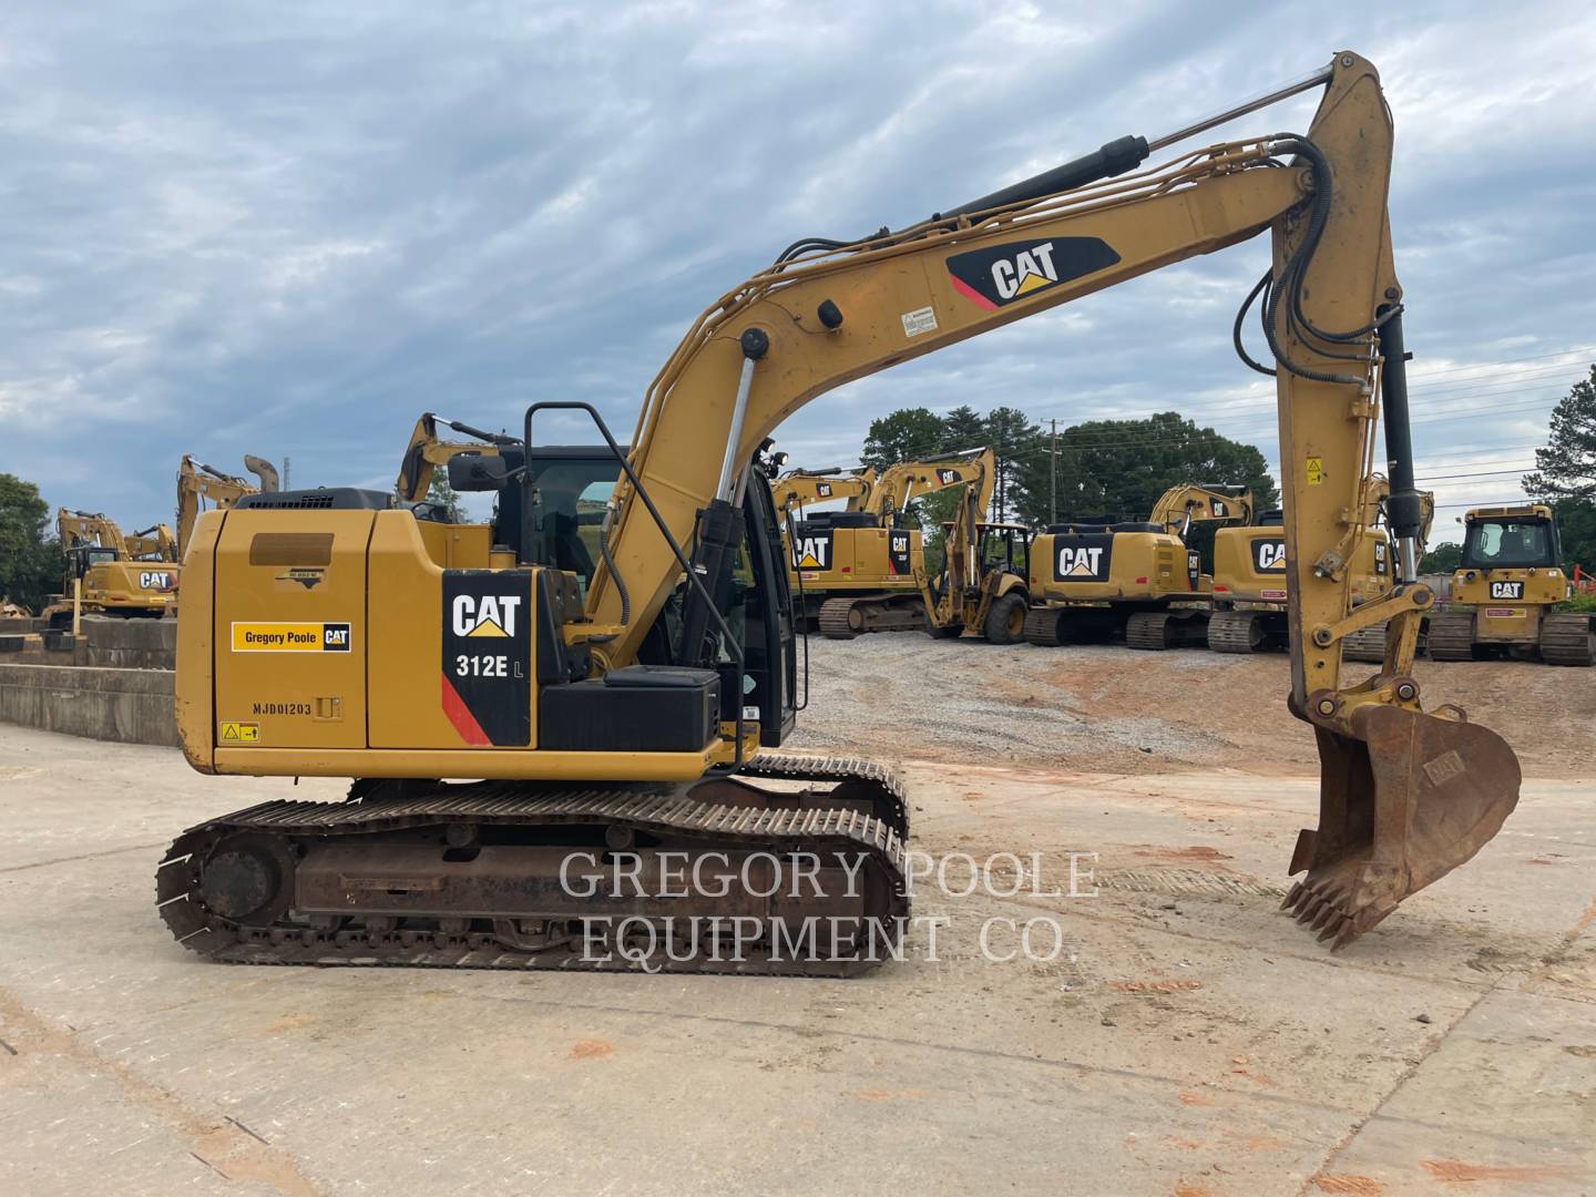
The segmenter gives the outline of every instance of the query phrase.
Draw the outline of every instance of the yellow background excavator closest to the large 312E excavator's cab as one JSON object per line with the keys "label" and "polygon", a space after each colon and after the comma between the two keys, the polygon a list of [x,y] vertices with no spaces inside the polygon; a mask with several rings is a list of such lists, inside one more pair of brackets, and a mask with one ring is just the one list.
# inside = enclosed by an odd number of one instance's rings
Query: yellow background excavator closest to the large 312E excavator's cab
{"label": "yellow background excavator closest to the large 312E excavator's cab", "polygon": [[911,527],[908,504],[962,487],[964,506],[985,519],[994,476],[990,448],[900,461],[865,474],[865,490],[847,509],[793,520],[788,581],[800,618],[814,619],[828,640],[929,627],[921,602],[924,533]]}

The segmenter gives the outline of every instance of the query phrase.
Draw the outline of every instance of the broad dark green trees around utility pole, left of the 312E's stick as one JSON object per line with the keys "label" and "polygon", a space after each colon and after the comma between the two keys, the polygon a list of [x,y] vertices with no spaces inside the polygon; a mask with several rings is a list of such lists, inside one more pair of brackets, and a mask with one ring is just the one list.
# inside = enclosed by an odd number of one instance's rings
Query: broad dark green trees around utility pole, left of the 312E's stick
{"label": "broad dark green trees around utility pole, left of the 312E's stick", "polygon": [[1199,428],[1179,412],[1060,429],[1057,480],[1050,440],[1037,433],[1033,450],[1018,458],[1013,506],[1029,523],[1049,523],[1055,506],[1058,519],[1146,516],[1159,495],[1183,482],[1251,487],[1258,508],[1280,501],[1256,445]]}

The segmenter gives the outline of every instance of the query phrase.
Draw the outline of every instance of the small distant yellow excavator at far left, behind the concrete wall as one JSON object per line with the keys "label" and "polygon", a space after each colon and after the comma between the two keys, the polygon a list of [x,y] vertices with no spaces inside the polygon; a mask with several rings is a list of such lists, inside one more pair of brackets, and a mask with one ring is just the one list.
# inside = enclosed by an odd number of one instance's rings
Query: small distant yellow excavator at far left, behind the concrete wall
{"label": "small distant yellow excavator at far left, behind the concrete wall", "polygon": [[[115,520],[99,512],[57,508],[56,535],[67,557],[67,573],[61,595],[41,613],[51,629],[72,626],[73,583],[81,592],[81,610],[89,614],[160,619],[177,610],[182,567],[164,557],[136,559]],[[147,547],[140,543],[140,549]]]}

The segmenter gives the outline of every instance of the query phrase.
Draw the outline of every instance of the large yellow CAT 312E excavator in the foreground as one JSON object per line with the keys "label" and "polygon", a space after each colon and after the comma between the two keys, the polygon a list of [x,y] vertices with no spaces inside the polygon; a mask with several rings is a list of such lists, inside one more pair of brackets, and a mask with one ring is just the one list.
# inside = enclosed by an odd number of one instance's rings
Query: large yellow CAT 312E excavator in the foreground
{"label": "large yellow CAT 312E excavator in the foreground", "polygon": [[[1143,166],[1307,89],[1306,134]],[[793,726],[798,667],[761,445],[835,386],[1266,231],[1251,300],[1269,351],[1240,348],[1278,393],[1288,702],[1321,761],[1286,907],[1333,946],[1366,932],[1489,841],[1519,784],[1508,745],[1425,712],[1409,672],[1433,594],[1414,578],[1390,161],[1377,73],[1337,53],[913,227],[793,243],[693,322],[629,448],[597,409],[539,402],[519,444],[450,461],[456,490],[496,493],[490,522],[358,488],[206,512],[179,618],[187,760],[356,780],[353,801],[273,800],[184,832],[156,875],[174,937],[239,962],[868,970],[908,916],[903,790],[876,764],[764,750]],[[602,444],[546,452],[552,412],[584,412]],[[1377,417],[1398,573],[1353,610],[1344,546]],[[616,469],[583,594],[531,508],[575,514],[584,488],[551,474]],[[284,567],[322,581],[279,586]],[[1379,619],[1387,661],[1349,685],[1341,642]]]}

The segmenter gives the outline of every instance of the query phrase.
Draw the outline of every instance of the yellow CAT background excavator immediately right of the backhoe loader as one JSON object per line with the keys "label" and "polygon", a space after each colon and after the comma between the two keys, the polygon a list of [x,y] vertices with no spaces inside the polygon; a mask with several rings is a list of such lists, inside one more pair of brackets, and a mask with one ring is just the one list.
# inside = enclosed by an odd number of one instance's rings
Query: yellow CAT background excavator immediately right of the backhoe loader
{"label": "yellow CAT background excavator immediately right of the backhoe loader", "polygon": [[1128,648],[1207,643],[1211,578],[1186,536],[1199,523],[1251,523],[1245,487],[1170,487],[1144,522],[1055,523],[1031,544],[1025,638],[1068,645],[1124,638]]}

